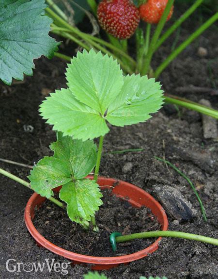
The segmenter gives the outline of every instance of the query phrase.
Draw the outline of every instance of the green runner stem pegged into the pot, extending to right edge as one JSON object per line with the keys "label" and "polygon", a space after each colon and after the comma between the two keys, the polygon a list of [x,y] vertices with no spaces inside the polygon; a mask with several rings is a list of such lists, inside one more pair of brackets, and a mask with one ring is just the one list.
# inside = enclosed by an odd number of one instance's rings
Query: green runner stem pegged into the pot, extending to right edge
{"label": "green runner stem pegged into the pot, extending to right edge", "polygon": [[196,241],[201,241],[204,243],[209,243],[218,246],[218,239],[216,238],[182,232],[182,231],[170,231],[170,230],[146,231],[146,232],[139,232],[139,233],[133,233],[128,235],[117,236],[116,241],[120,243],[125,241],[131,241],[136,238],[151,238],[151,237],[160,237],[160,236],[196,240]]}

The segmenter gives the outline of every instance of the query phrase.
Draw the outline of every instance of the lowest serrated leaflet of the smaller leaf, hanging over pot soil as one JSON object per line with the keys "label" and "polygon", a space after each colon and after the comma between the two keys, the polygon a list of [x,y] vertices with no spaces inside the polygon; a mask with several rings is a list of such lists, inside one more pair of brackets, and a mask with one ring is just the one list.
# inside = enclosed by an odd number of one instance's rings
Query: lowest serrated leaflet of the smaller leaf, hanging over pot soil
{"label": "lowest serrated leaflet of the smaller leaf, hanging over pot soil", "polygon": [[102,194],[93,180],[70,181],[62,186],[59,197],[67,203],[69,218],[79,224],[90,221],[102,205]]}

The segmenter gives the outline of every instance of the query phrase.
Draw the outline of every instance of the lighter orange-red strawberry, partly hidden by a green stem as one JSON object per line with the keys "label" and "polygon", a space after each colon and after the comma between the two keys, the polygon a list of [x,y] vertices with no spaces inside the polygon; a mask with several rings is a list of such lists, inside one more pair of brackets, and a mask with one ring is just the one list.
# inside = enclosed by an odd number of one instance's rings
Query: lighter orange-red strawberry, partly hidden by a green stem
{"label": "lighter orange-red strawberry, partly hidden by a green stem", "polygon": [[[140,6],[141,19],[151,24],[157,24],[164,12],[167,2],[168,0],[147,0],[145,4]],[[172,12],[173,6],[171,7],[167,20],[171,18]]]}

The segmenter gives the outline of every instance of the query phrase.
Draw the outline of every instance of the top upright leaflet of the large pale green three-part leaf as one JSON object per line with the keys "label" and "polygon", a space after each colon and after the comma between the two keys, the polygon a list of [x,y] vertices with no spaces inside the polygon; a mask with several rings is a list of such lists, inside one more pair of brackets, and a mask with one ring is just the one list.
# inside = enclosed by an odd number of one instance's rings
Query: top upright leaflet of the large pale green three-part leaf
{"label": "top upright leaflet of the large pale green three-part leaf", "polygon": [[116,60],[101,52],[83,50],[68,64],[67,85],[82,103],[104,116],[123,85],[123,74]]}

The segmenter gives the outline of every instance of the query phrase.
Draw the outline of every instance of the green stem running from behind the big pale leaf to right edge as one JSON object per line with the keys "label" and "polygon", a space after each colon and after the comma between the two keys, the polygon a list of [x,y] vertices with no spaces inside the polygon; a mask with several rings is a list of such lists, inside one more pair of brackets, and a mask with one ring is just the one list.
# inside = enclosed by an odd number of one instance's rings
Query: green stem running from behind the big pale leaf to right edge
{"label": "green stem running from behind the big pale leaf to right edge", "polygon": [[170,94],[165,94],[164,95],[164,101],[167,102],[167,103],[176,104],[176,105],[179,105],[181,107],[191,109],[191,110],[199,112],[201,114],[209,115],[213,118],[218,119],[218,111],[217,110],[214,110],[212,108],[200,105],[198,103],[192,102],[192,101],[187,100],[185,98],[180,98],[180,97],[177,97],[177,96],[172,96]]}

